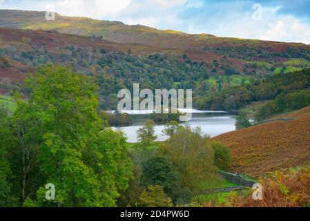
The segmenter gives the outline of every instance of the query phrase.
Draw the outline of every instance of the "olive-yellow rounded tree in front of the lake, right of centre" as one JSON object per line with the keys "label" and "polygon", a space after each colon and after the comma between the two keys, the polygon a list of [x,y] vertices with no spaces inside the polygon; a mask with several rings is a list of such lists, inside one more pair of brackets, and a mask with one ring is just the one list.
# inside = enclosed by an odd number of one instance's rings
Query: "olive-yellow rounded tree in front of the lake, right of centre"
{"label": "olive-yellow rounded tree in front of the lake, right of centre", "polygon": [[214,166],[214,150],[208,141],[200,128],[181,128],[159,148],[159,155],[173,162],[180,174],[180,186],[193,193],[199,193],[202,184],[212,186],[220,180]]}

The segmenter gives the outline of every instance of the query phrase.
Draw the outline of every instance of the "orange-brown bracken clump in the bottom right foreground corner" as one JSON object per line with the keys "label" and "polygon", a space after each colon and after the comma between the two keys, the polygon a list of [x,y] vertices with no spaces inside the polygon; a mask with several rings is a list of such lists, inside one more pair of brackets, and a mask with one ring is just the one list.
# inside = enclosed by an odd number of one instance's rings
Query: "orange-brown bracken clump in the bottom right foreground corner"
{"label": "orange-brown bracken clump in the bottom right foreground corner", "polygon": [[252,193],[234,194],[225,206],[233,207],[301,207],[310,205],[310,166],[287,173],[275,172],[262,179],[262,200],[253,200]]}

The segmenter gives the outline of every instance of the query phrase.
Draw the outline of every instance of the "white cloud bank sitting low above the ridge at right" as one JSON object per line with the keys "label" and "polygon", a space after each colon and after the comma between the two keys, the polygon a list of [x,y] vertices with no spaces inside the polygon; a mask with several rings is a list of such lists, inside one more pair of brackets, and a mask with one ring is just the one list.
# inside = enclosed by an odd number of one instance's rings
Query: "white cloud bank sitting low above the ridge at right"
{"label": "white cloud bank sitting low above the ridge at right", "polygon": [[231,11],[229,15],[214,16],[205,21],[186,21],[188,33],[209,33],[219,37],[239,37],[268,41],[302,42],[310,44],[310,26],[291,15],[277,15],[276,8],[264,8],[262,20],[255,20],[251,12]]}

